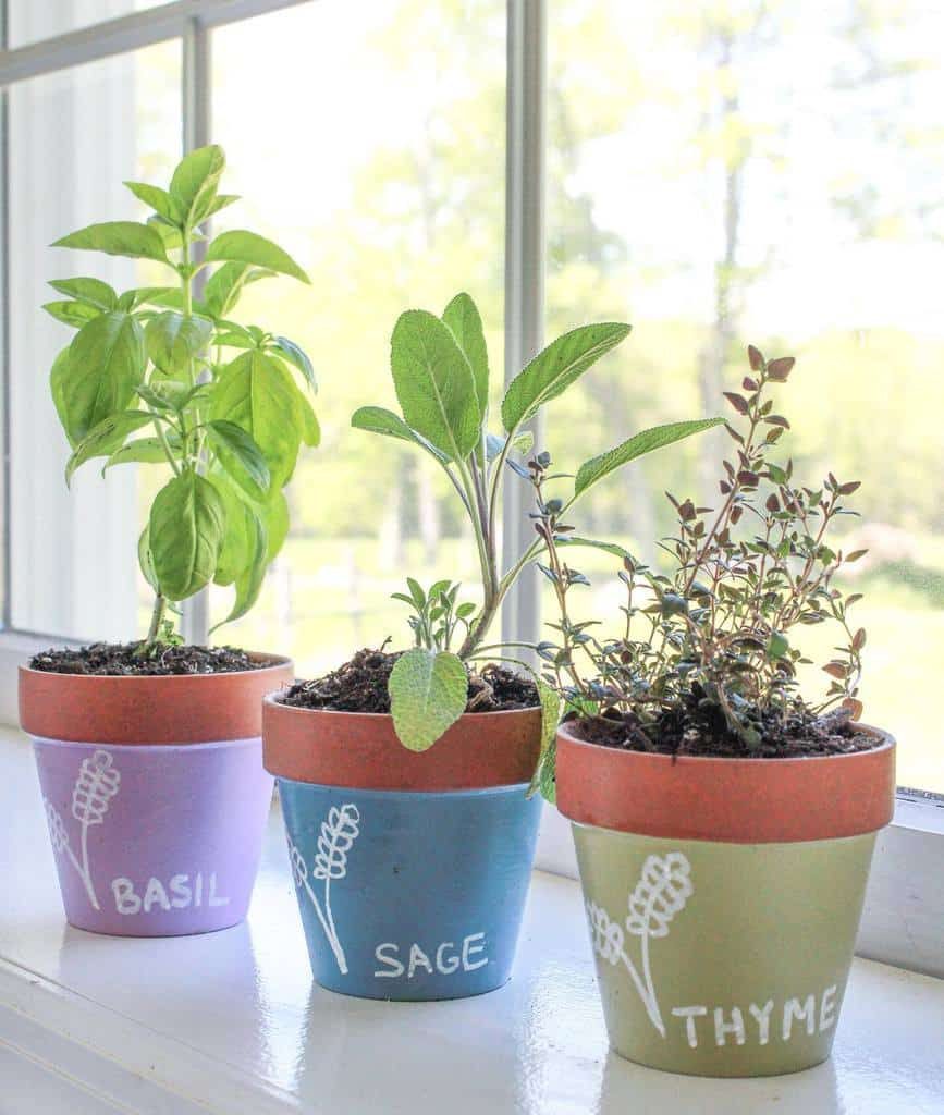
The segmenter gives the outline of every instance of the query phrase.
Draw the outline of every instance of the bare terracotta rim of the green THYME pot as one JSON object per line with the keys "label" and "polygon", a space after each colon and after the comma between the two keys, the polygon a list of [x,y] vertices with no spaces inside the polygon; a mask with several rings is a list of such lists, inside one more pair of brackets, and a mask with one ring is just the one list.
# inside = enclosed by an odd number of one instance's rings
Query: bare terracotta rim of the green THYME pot
{"label": "bare terracotta rim of the green THYME pot", "polygon": [[733,844],[858,836],[895,807],[893,737],[866,752],[796,758],[653,755],[557,730],[557,808],[580,824]]}

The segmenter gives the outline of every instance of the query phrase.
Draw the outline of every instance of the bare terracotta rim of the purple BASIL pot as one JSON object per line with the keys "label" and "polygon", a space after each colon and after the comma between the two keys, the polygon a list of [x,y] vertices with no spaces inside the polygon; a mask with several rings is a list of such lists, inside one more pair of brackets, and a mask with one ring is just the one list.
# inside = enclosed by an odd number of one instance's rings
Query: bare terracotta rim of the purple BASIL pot
{"label": "bare terracotta rim of the purple BASIL pot", "polygon": [[20,725],[41,739],[90,744],[206,744],[262,734],[262,698],[294,679],[281,655],[251,652],[226,673],[55,673],[19,668]]}

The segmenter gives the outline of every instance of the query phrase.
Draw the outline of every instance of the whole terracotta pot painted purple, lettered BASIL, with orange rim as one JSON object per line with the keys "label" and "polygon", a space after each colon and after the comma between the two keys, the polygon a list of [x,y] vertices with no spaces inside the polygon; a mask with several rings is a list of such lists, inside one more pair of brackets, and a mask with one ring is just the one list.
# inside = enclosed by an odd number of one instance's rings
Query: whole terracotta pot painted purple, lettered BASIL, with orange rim
{"label": "whole terracotta pot painted purple, lettered BASIL, with orange rim", "polygon": [[293,677],[288,659],[265,661],[168,677],[20,669],[70,924],[172,937],[245,918],[272,798],[262,697]]}

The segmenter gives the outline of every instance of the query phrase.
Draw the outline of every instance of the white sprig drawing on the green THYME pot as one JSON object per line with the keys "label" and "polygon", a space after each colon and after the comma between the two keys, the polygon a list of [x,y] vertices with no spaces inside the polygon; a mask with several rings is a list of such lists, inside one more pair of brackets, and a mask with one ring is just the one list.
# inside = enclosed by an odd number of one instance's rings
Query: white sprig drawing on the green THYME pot
{"label": "white sprig drawing on the green THYME pot", "polygon": [[650,855],[642,867],[642,874],[630,894],[626,931],[639,937],[642,942],[642,976],[626,956],[623,927],[613,921],[603,906],[587,901],[586,912],[593,937],[593,950],[607,963],[623,963],[630,973],[649,1019],[665,1037],[665,1024],[659,1009],[659,998],[652,979],[649,942],[653,938],[666,937],[669,923],[694,893],[691,881],[691,864],[681,852],[668,855]]}

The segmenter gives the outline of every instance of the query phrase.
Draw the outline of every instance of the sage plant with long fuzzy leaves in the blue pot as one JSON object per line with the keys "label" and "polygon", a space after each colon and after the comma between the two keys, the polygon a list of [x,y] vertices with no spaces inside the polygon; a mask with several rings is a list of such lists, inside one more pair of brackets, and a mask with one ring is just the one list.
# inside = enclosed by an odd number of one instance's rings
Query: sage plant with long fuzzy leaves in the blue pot
{"label": "sage plant with long fuzzy leaves in the blue pot", "polygon": [[[361,407],[351,424],[373,434],[398,438],[428,454],[449,477],[468,516],[481,573],[483,601],[459,603],[458,585],[438,581],[425,592],[408,579],[409,595],[398,593],[413,615],[416,647],[401,655],[390,675],[390,710],[401,743],[425,750],[465,711],[467,663],[483,657],[505,657],[509,644],[486,644],[502,602],[522,570],[536,562],[546,543],[535,533],[510,568],[499,568],[498,531],[502,491],[507,475],[533,479],[533,467],[544,469],[549,456],[537,454],[527,429],[538,411],[576,382],[601,357],[630,332],[620,322],[583,326],[547,346],[509,384],[500,406],[500,432],[489,432],[488,351],[481,318],[468,294],[457,294],[441,317],[408,310],[393,329],[391,371],[400,415],[381,407]],[[564,514],[598,481],[622,465],[661,446],[700,433],[718,419],[681,421],[644,430],[577,469],[566,498],[555,502]],[[559,477],[557,477],[559,478]],[[533,516],[539,518],[542,508]],[[583,540],[582,540],[583,541]],[[461,637],[454,652],[454,638]],[[513,643],[527,647],[527,643]],[[497,655],[495,653],[497,652]],[[553,734],[556,696],[538,680],[545,710],[545,734]],[[552,699],[553,698],[553,699]]]}

